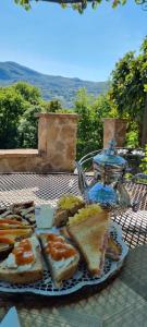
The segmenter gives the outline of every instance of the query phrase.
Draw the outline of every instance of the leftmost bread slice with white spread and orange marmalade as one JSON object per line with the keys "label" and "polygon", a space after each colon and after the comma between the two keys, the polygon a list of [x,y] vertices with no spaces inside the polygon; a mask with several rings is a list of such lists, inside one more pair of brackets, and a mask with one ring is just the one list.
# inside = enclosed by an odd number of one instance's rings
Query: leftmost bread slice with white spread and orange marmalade
{"label": "leftmost bread slice with white spread and orange marmalade", "polygon": [[15,242],[13,251],[0,264],[0,279],[29,283],[42,278],[40,245],[36,235]]}

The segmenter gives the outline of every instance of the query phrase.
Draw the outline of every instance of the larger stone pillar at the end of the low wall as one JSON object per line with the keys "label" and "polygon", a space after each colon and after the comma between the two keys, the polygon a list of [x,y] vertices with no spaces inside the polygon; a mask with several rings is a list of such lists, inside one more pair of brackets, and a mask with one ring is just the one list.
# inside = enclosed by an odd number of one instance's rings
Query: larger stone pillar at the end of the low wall
{"label": "larger stone pillar at the end of the low wall", "polygon": [[37,113],[38,152],[51,171],[73,171],[76,158],[76,113]]}

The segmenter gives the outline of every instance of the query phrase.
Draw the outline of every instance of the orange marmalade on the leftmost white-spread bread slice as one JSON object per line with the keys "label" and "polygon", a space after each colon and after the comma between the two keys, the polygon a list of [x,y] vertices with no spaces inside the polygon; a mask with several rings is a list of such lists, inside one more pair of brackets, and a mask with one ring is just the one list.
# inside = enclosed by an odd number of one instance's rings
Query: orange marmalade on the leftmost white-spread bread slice
{"label": "orange marmalade on the leftmost white-spread bread slice", "polygon": [[28,265],[34,262],[34,254],[32,250],[32,243],[29,240],[22,240],[12,252],[15,256],[15,263],[17,266]]}

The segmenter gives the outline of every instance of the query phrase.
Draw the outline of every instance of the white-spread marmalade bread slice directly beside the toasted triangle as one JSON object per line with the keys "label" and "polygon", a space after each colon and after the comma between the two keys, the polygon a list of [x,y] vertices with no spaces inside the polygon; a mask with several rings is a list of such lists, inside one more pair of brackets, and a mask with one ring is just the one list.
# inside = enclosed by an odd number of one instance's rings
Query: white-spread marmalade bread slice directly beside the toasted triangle
{"label": "white-spread marmalade bread slice directly beside the toasted triangle", "polygon": [[[49,267],[49,269],[51,271],[53,282],[54,282],[56,287],[61,287],[62,281],[71,278],[74,275],[74,272],[76,271],[78,261],[79,261],[79,254],[72,244],[70,244],[65,241],[65,239],[63,237],[59,237],[57,239],[58,244],[60,243],[61,246],[62,246],[62,244],[65,244],[65,246],[68,246],[68,250],[72,251],[72,253],[71,253],[71,256],[69,256],[69,257],[64,257],[64,256],[61,257],[62,255],[59,254],[60,258],[58,257],[57,259],[54,259],[54,257],[52,257],[52,254],[50,252],[48,252],[48,249],[50,247],[51,250],[54,251],[56,241],[53,241],[51,243],[49,241],[50,240],[49,234],[40,234],[39,238],[41,241],[42,253],[44,253],[47,266]],[[57,252],[60,252],[60,249],[57,249]],[[66,255],[66,253],[65,253],[65,255]]]}

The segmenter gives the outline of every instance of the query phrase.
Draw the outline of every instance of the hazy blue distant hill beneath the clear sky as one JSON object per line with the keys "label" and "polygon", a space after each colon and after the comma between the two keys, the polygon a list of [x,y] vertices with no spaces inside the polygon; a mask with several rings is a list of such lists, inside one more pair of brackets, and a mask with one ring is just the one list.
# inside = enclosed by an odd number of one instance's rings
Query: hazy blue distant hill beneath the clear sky
{"label": "hazy blue distant hill beneath the clear sky", "polygon": [[25,81],[39,87],[44,99],[59,98],[66,107],[72,107],[75,94],[81,87],[85,87],[87,93],[94,96],[108,89],[108,82],[88,82],[77,77],[45,75],[15,62],[0,62],[0,86],[19,81]]}

